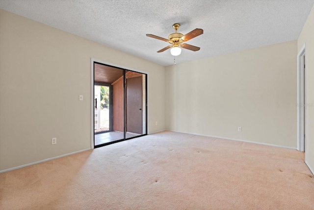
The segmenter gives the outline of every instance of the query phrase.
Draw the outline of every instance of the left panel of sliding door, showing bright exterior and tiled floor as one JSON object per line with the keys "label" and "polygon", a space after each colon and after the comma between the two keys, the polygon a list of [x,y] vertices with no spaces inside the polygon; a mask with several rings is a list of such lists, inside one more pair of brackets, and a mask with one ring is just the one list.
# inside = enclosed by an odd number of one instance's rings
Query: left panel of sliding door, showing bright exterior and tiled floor
{"label": "left panel of sliding door, showing bright exterior and tiled floor", "polygon": [[124,70],[94,63],[94,146],[124,140]]}

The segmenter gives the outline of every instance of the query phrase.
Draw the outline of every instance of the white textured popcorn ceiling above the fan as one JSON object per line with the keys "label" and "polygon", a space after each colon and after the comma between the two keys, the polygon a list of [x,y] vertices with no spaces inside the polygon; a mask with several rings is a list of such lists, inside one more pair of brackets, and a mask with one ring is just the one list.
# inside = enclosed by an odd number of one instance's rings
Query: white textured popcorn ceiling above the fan
{"label": "white textured popcorn ceiling above the fan", "polygon": [[167,38],[196,28],[187,41],[200,51],[182,50],[177,63],[295,40],[314,0],[0,0],[0,8],[167,66]]}

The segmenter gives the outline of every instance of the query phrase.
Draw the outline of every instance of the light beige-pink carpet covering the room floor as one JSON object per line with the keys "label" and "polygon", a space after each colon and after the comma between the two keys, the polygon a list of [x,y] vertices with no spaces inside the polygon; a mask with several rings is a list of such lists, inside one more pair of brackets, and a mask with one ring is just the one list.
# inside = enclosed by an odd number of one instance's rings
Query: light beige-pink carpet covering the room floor
{"label": "light beige-pink carpet covering the room floor", "polygon": [[164,131],[0,174],[1,210],[311,210],[304,153]]}

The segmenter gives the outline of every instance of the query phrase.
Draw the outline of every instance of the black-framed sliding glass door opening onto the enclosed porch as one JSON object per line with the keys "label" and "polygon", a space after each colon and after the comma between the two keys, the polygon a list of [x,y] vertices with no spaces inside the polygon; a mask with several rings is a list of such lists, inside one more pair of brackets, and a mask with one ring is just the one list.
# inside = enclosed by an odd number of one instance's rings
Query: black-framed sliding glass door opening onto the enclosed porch
{"label": "black-framed sliding glass door opening onto the enclosed porch", "polygon": [[92,148],[147,135],[147,74],[92,60]]}

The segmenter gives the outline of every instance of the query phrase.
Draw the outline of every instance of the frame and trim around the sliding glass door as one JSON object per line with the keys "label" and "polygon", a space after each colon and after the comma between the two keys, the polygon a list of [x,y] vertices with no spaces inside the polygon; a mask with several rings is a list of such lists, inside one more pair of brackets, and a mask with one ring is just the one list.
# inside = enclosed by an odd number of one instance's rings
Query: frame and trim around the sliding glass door
{"label": "frame and trim around the sliding glass door", "polygon": [[[121,69],[124,69],[124,70],[129,70],[129,71],[135,71],[135,72],[138,72],[138,73],[142,73],[142,74],[146,74],[146,112],[145,112],[145,115],[146,115],[146,132],[145,134],[141,135],[141,136],[144,136],[144,135],[147,135],[148,134],[148,122],[149,122],[149,115],[148,115],[148,110],[149,110],[149,73],[148,72],[145,72],[145,71],[140,71],[140,70],[137,70],[137,69],[132,69],[132,68],[129,68],[129,67],[125,67],[125,66],[122,66],[122,65],[118,65],[118,64],[115,64],[115,63],[110,63],[110,62],[107,62],[107,61],[103,61],[103,60],[97,60],[97,59],[94,59],[94,58],[91,58],[91,68],[90,68],[90,72],[91,72],[91,96],[90,96],[90,103],[91,103],[91,106],[90,106],[90,126],[91,126],[91,150],[94,149],[94,62],[98,62],[98,63],[101,63],[101,64],[104,64],[104,65],[109,65],[109,66],[113,66],[113,67],[117,67],[117,68],[121,68]],[[125,72],[124,72],[125,74]],[[125,75],[124,75],[125,76]],[[124,116],[125,117],[125,116]],[[139,137],[139,136],[136,136],[136,137]],[[135,138],[136,138],[135,137]]]}

